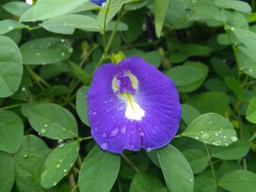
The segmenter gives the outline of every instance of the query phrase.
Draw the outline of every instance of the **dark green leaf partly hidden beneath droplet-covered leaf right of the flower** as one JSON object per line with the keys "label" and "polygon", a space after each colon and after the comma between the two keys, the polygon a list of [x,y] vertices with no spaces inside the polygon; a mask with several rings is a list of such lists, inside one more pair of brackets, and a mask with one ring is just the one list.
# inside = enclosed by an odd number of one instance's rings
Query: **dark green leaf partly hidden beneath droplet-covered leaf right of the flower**
{"label": "dark green leaf partly hidden beneath droplet-covered leaf right of the flower", "polygon": [[248,142],[238,140],[228,147],[216,147],[211,155],[224,160],[236,160],[243,158],[249,152],[249,148]]}

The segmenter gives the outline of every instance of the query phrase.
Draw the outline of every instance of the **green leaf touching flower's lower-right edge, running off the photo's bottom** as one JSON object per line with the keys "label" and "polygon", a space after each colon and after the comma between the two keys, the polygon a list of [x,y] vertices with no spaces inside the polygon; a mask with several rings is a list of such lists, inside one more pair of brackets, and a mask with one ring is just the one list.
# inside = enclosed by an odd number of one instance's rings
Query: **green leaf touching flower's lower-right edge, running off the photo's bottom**
{"label": "green leaf touching flower's lower-right edge, running off the photo's bottom", "polygon": [[194,175],[184,155],[172,145],[157,150],[157,155],[170,191],[192,192]]}

